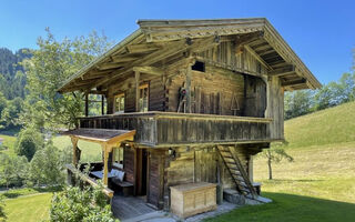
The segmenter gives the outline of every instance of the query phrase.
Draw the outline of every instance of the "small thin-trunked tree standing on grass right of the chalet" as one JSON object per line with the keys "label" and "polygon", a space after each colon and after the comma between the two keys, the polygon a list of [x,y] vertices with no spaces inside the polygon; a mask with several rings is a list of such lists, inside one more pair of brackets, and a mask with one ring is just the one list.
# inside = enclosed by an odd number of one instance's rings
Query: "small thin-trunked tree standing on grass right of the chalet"
{"label": "small thin-trunked tree standing on grass right of the chalet", "polygon": [[286,153],[286,151],[282,148],[281,144],[276,144],[273,148],[264,150],[261,153],[262,157],[266,158],[267,167],[268,167],[268,180],[273,179],[273,163],[280,163],[282,160],[287,160],[288,162],[293,162],[294,159]]}

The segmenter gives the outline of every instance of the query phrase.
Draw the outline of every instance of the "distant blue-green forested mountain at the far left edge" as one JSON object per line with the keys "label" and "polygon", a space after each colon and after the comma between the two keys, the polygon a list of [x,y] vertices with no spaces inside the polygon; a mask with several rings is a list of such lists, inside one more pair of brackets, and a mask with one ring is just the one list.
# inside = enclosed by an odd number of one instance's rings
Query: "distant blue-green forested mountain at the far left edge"
{"label": "distant blue-green forested mountain at the far left edge", "polygon": [[29,49],[20,49],[16,53],[7,48],[0,48],[0,92],[8,100],[26,95],[26,74],[21,62],[31,58]]}

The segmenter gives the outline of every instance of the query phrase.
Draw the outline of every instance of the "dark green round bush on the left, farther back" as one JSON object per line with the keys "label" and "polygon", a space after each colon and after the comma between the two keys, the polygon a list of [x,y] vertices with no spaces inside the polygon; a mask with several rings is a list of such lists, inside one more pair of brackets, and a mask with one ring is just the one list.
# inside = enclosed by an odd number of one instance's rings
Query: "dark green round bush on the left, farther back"
{"label": "dark green round bush on the left, farther back", "polygon": [[31,161],[36,151],[42,148],[43,143],[43,137],[39,131],[32,128],[22,129],[16,141],[16,152]]}

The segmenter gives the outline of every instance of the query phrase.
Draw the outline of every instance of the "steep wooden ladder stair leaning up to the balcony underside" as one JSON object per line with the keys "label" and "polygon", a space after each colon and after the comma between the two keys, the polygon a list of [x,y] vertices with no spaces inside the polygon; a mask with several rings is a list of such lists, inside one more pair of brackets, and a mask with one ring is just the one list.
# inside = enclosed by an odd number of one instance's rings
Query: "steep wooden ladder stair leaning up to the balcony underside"
{"label": "steep wooden ladder stair leaning up to the balcony underside", "polygon": [[231,151],[231,147],[217,145],[221,158],[229,169],[236,189],[250,199],[257,199],[257,193],[252,185],[240,159]]}

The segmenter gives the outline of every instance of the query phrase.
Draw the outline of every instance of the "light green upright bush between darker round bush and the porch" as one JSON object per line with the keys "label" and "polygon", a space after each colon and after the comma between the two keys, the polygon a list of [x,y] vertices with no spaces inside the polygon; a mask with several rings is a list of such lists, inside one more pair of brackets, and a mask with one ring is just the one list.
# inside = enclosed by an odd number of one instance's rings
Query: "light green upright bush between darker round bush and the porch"
{"label": "light green upright bush between darker round bush and the porch", "polygon": [[58,185],[63,183],[63,165],[60,152],[51,142],[38,150],[30,163],[30,180],[37,184]]}

